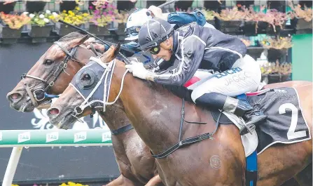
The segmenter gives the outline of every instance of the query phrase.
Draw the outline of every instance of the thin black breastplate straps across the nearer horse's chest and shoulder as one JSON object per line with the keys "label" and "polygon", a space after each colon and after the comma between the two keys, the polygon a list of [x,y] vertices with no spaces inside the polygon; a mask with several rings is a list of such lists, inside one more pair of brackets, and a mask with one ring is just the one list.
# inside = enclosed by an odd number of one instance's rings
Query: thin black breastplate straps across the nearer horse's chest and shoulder
{"label": "thin black breastplate straps across the nearer horse's chest and shoulder", "polygon": [[[221,114],[219,114],[218,116],[218,119],[216,121],[216,128],[213,132],[211,133],[204,133],[202,135],[197,135],[195,137],[192,137],[192,138],[186,138],[184,140],[181,140],[181,132],[183,130],[183,121],[186,121],[184,119],[185,117],[185,100],[183,99],[183,104],[182,104],[182,107],[181,107],[181,123],[180,123],[180,127],[179,127],[179,142],[177,142],[175,145],[173,145],[172,147],[170,147],[168,150],[165,150],[165,152],[162,152],[161,154],[157,154],[157,155],[154,155],[151,151],[151,154],[152,154],[152,157],[156,158],[156,159],[161,159],[161,158],[165,158],[167,157],[169,154],[172,154],[172,152],[174,152],[175,150],[178,150],[179,148],[181,147],[184,147],[186,145],[190,145],[190,144],[193,144],[195,142],[199,142],[201,140],[205,140],[207,138],[209,138],[210,140],[213,140],[213,135],[214,133],[217,131],[217,128],[218,128],[218,121],[220,120],[221,118],[221,115],[222,115],[222,112]],[[190,121],[186,121],[186,123],[188,124],[207,124],[207,123],[202,123],[202,122],[190,122]]]}

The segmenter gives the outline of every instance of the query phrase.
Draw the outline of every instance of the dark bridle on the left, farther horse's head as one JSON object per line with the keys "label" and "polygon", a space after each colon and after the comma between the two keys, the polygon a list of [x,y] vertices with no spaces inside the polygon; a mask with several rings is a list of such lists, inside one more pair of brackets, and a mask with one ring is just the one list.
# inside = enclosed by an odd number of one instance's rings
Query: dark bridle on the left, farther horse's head
{"label": "dark bridle on the left, farther horse's head", "polygon": [[[62,51],[65,54],[67,54],[67,56],[64,58],[64,60],[62,60],[60,65],[57,66],[57,69],[55,69],[55,72],[53,72],[53,74],[49,74],[46,79],[42,79],[40,77],[36,77],[36,76],[33,76],[31,74],[26,74],[26,73],[22,74],[22,76],[21,76],[21,79],[29,77],[32,79],[38,79],[38,80],[42,81],[44,84],[46,84],[45,88],[36,89],[33,93],[30,90],[27,83],[23,84],[25,86],[25,90],[27,91],[27,94],[29,95],[29,98],[32,101],[34,107],[39,106],[38,102],[40,102],[46,98],[58,98],[59,97],[58,95],[50,95],[47,93],[47,91],[49,90],[49,88],[51,88],[55,84],[55,81],[57,81],[57,78],[60,77],[60,74],[62,74],[63,71],[65,73],[67,73],[65,71],[65,69],[67,69],[67,63],[69,62],[70,59],[83,64],[83,62],[80,62],[80,61],[75,60],[73,58],[74,54],[77,51],[78,46],[75,46],[74,48],[71,48],[70,51],[67,51],[67,48],[64,48],[64,46],[62,46],[60,44],[60,42],[55,41],[53,44],[56,44],[57,46],[59,46],[62,49]],[[83,65],[85,65],[85,64],[83,64]],[[52,81],[50,81],[50,79],[52,79]]]}

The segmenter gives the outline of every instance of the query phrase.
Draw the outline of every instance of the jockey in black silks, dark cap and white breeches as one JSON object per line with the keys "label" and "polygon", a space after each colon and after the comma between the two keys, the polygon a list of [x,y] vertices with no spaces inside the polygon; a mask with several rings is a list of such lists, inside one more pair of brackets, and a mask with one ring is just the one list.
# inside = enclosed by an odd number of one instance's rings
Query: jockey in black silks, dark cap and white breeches
{"label": "jockey in black silks, dark cap and white breeches", "polygon": [[[259,65],[246,55],[246,46],[236,36],[195,22],[174,30],[169,22],[154,18],[141,27],[138,40],[141,50],[150,52],[153,58],[162,58],[169,67],[155,73],[144,68],[141,62],[126,65],[134,77],[183,86],[197,69],[213,69],[218,73],[193,89],[193,102],[236,114],[249,128],[267,118],[260,110],[232,98],[257,91],[261,79]],[[241,135],[248,132],[246,127],[240,128]]]}

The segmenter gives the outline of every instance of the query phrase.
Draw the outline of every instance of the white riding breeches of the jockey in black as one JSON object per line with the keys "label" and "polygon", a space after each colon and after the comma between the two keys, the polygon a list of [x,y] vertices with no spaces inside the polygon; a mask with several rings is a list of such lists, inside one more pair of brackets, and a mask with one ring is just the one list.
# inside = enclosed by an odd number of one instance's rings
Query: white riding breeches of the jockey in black
{"label": "white riding breeches of the jockey in black", "polygon": [[193,88],[191,98],[195,102],[204,93],[236,96],[257,91],[260,79],[260,65],[250,55],[245,55],[244,58],[237,60],[231,69],[214,74],[210,79]]}

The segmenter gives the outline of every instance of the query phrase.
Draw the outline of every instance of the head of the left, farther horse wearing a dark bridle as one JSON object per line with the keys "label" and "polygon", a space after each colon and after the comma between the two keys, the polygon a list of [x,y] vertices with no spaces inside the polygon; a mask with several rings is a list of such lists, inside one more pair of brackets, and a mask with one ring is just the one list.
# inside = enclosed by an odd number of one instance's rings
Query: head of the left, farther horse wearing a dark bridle
{"label": "head of the left, farther horse wearing a dark bridle", "polygon": [[35,107],[51,100],[53,95],[62,93],[76,72],[95,56],[80,46],[86,39],[88,36],[72,32],[50,46],[7,94],[10,106],[20,112],[32,112]]}

